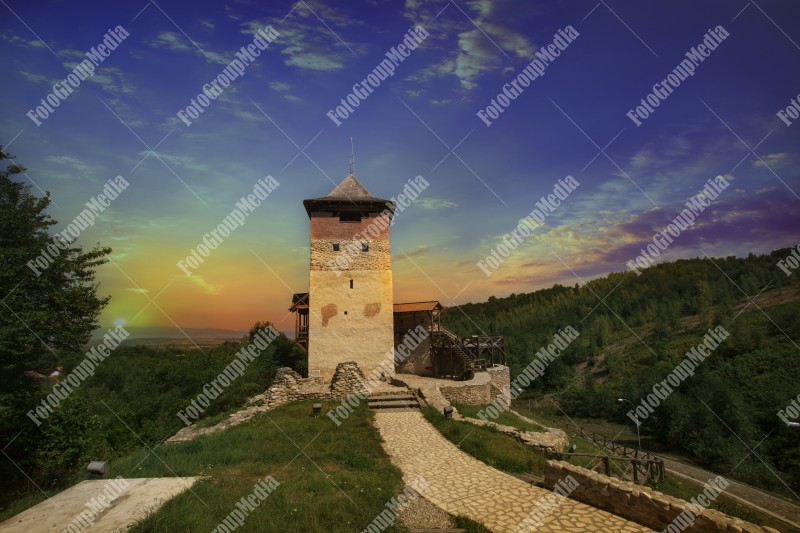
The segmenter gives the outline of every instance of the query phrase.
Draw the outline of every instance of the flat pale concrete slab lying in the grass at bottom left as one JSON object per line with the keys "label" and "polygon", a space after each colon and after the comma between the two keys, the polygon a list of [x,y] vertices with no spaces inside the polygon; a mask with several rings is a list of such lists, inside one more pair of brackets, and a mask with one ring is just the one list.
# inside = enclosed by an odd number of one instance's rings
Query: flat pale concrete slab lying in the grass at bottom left
{"label": "flat pale concrete slab lying in the grass at bottom left", "polygon": [[0,524],[0,533],[123,531],[198,477],[82,481]]}

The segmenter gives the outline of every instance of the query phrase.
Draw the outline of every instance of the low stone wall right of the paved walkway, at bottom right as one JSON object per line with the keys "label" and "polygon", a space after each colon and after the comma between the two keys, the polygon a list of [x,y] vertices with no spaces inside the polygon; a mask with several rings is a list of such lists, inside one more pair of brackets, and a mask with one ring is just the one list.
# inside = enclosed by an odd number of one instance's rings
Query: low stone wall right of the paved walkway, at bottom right
{"label": "low stone wall right of the paved walkway, at bottom right", "polygon": [[[564,479],[567,475],[572,476],[578,482],[577,488],[569,494],[573,500],[627,518],[656,531],[665,529],[684,510],[691,510],[690,504],[684,500],[563,461],[547,462],[544,473],[545,487],[552,490],[556,482]],[[702,514],[697,516],[694,524],[682,531],[688,533],[722,531],[777,533],[775,529],[756,526],[712,509],[703,510]]]}

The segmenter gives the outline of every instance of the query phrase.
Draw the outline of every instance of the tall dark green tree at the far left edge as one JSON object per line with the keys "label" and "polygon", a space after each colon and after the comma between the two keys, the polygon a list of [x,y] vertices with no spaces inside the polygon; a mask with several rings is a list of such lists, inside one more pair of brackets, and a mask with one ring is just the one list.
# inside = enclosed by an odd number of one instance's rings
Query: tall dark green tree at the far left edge
{"label": "tall dark green tree at the far left edge", "polygon": [[[10,156],[0,150],[2,159]],[[88,342],[108,303],[97,296],[95,268],[111,251],[97,245],[84,252],[64,241],[54,246],[50,195],[36,197],[15,181],[24,172],[13,163],[0,171],[0,447],[16,463],[0,461],[0,477],[9,488],[24,479],[21,470],[36,471],[31,463],[42,440],[41,429],[26,416],[41,401],[42,384],[25,371],[49,372],[62,354]],[[52,261],[46,268],[40,263],[37,275],[28,263],[48,245]]]}

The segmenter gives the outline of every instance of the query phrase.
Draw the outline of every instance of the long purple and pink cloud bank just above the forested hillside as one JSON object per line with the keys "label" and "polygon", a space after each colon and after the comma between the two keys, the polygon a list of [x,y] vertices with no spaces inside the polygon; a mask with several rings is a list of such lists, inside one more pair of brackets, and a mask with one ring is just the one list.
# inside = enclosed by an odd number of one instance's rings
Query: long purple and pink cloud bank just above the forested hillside
{"label": "long purple and pink cloud bank just above the forested hillside", "polygon": [[[695,226],[674,238],[656,262],[690,257],[768,252],[796,243],[800,211],[784,189],[757,193],[729,188],[695,220]],[[626,263],[653,242],[683,205],[652,208],[627,216],[597,217],[594,213],[559,226],[538,228],[498,269],[491,283],[542,287],[546,283],[574,282],[568,269],[588,279],[610,271],[627,270]],[[549,261],[553,259],[553,261]],[[566,277],[565,277],[566,276]]]}

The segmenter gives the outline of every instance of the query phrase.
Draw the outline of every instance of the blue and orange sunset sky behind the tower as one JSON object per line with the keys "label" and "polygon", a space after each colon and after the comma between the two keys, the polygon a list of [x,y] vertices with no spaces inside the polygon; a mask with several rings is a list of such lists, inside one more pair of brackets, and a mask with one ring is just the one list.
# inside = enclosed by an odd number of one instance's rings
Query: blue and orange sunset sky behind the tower
{"label": "blue and orange sunset sky behind the tower", "polygon": [[[377,197],[429,183],[391,229],[396,302],[452,306],[628,270],[698,194],[705,209],[655,262],[800,242],[794,2],[2,4],[0,144],[51,194],[53,230],[108,180],[129,184],[77,238],[113,249],[97,275],[103,327],[292,329],[291,295],[309,280],[302,200],[344,179],[351,152]],[[54,89],[85,61],[93,74]],[[227,86],[192,119],[213,80]],[[364,80],[369,94],[354,89]],[[337,112],[348,96],[357,107]],[[578,186],[498,249],[568,176]],[[702,196],[718,176],[729,185]],[[187,275],[178,262],[269,178],[274,190]],[[502,261],[481,268],[493,250]]]}

